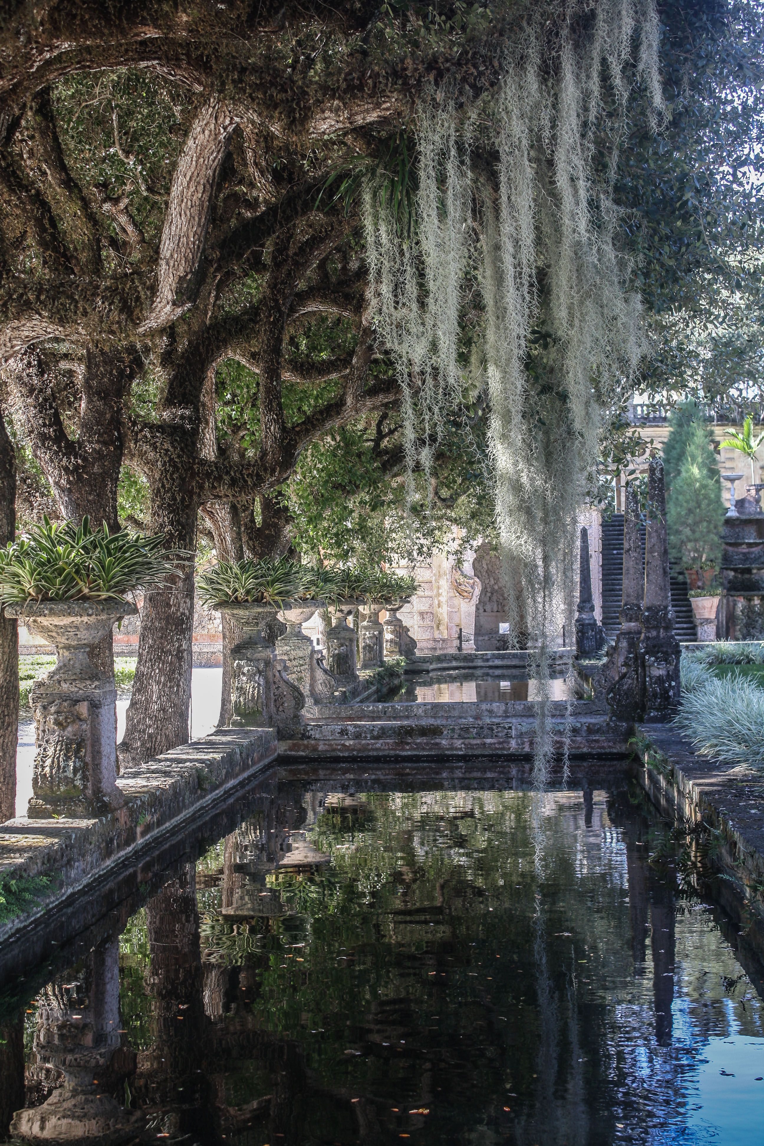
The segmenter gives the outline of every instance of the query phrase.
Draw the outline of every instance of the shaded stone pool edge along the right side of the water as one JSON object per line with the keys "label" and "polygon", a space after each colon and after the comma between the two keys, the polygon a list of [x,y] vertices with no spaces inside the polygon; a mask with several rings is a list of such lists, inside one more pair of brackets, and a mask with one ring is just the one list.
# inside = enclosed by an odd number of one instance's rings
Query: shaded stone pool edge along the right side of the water
{"label": "shaded stone pool edge along the right side of the water", "polygon": [[698,841],[714,896],[764,955],[764,772],[700,756],[671,724],[640,724],[640,783]]}

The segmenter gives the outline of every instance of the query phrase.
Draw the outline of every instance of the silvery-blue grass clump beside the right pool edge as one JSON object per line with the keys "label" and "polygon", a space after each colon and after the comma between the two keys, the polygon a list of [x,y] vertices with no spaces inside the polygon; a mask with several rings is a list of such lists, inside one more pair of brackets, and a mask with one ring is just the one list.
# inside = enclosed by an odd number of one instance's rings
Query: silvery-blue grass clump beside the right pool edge
{"label": "silvery-blue grass clump beside the right pool edge", "polygon": [[701,756],[723,764],[764,767],[764,689],[737,674],[718,680],[707,666],[690,664],[688,674],[683,667],[675,725]]}

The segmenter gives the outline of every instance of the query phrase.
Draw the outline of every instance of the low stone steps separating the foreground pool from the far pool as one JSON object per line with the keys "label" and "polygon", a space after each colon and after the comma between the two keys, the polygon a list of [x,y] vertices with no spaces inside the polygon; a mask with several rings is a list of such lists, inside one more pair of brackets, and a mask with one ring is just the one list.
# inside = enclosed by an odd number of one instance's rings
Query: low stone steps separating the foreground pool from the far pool
{"label": "low stone steps separating the foreground pool from the far pool", "polygon": [[[550,704],[558,756],[564,752],[566,708],[565,701]],[[304,721],[299,737],[279,741],[282,759],[530,759],[535,748],[536,706],[522,700],[316,705],[305,709]],[[591,701],[572,705],[572,758],[617,758],[627,751],[627,727],[609,722]]]}

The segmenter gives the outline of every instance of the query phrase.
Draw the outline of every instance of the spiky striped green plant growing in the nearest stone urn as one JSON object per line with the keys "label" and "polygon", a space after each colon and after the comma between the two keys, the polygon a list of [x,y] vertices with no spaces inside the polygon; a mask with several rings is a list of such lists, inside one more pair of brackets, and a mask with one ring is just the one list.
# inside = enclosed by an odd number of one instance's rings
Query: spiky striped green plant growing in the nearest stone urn
{"label": "spiky striped green plant growing in the nearest stone urn", "polygon": [[17,541],[0,550],[0,604],[44,601],[112,601],[136,590],[162,586],[175,571],[162,534],[147,536],[126,529],[110,533],[103,525],[52,523],[44,518]]}

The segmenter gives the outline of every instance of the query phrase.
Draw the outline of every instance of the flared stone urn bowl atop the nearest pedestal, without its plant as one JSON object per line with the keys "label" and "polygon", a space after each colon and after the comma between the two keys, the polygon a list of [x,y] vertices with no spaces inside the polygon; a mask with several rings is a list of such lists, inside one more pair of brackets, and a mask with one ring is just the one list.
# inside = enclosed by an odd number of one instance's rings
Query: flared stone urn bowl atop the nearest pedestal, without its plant
{"label": "flared stone urn bowl atop the nearest pedestal, without its plant", "polygon": [[105,637],[123,617],[137,609],[121,597],[110,601],[29,601],[6,605],[6,617],[16,617],[30,633],[56,649],[58,660],[48,680],[97,680],[88,649]]}

